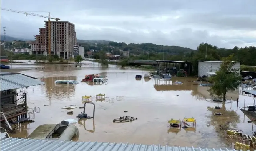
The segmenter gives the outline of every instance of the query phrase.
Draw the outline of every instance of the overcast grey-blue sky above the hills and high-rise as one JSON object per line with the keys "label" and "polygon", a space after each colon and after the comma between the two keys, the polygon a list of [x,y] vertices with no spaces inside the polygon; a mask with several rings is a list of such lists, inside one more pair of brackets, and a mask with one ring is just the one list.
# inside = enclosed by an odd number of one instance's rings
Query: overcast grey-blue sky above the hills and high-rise
{"label": "overcast grey-blue sky above the hills and high-rise", "polygon": [[[1,7],[75,24],[77,39],[155,43],[195,49],[256,46],[256,0],[2,0]],[[1,10],[1,34],[34,38],[44,20]]]}

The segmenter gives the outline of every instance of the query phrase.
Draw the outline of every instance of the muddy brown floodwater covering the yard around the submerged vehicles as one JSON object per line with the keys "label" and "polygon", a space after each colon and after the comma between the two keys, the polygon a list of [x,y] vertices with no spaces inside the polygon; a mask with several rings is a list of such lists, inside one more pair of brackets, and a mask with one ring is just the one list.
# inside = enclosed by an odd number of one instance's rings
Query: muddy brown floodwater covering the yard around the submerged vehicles
{"label": "muddy brown floodwater covering the yard around the submerged vehicles", "polygon": [[[45,70],[26,70],[22,74],[39,78],[46,82],[45,85],[32,86],[26,91],[29,108],[39,107],[40,113],[34,110],[33,123],[22,123],[17,128],[19,133],[11,134],[12,137],[28,137],[39,125],[60,123],[64,119],[77,119],[76,116],[83,112],[82,96],[96,96],[105,94],[114,102],[95,102],[95,119],[81,120],[75,124],[80,136],[74,138],[78,141],[98,142],[129,142],[142,144],[161,144],[194,147],[230,148],[230,143],[224,138],[225,127],[243,130],[252,135],[255,129],[253,123],[238,109],[237,102],[217,104],[206,101],[210,98],[207,88],[195,84],[193,78],[173,77],[172,80],[163,81],[155,79],[136,80],[135,75],[144,75],[146,71],[138,69],[120,69],[116,65],[108,68],[91,63],[80,67],[65,67],[66,65],[17,65],[13,69],[27,68],[27,66],[44,66]],[[108,76],[108,83],[102,85],[88,85],[79,83],[75,86],[55,85],[55,80],[69,79],[80,82],[86,74],[102,74]],[[181,81],[184,84],[175,85]],[[173,84],[173,85],[172,85]],[[124,100],[117,101],[117,96],[124,96]],[[238,106],[253,104],[253,99],[238,94],[228,94],[228,99],[236,100]],[[74,105],[72,110],[61,107]],[[224,107],[218,111],[215,106]],[[92,116],[92,104],[86,105],[86,113]],[[68,111],[74,111],[68,115]],[[124,111],[128,111],[125,113]],[[213,115],[214,112],[224,113],[221,116]],[[113,123],[114,118],[132,116],[138,120],[129,123]],[[186,131],[168,130],[167,121],[171,118],[182,120],[195,118],[196,128]],[[192,125],[192,124],[190,124]],[[224,127],[224,130],[223,130]]]}

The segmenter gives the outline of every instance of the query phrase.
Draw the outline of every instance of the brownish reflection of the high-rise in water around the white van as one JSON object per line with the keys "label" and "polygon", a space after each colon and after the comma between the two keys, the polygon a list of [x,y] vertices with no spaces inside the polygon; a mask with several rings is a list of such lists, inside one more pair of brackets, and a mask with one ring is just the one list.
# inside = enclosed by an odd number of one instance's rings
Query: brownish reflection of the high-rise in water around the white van
{"label": "brownish reflection of the high-rise in water around the white van", "polygon": [[67,98],[72,97],[75,93],[75,85],[67,85],[67,84],[55,84],[55,80],[77,80],[76,76],[70,77],[47,77],[41,78],[41,81],[44,81],[46,94],[51,98]]}

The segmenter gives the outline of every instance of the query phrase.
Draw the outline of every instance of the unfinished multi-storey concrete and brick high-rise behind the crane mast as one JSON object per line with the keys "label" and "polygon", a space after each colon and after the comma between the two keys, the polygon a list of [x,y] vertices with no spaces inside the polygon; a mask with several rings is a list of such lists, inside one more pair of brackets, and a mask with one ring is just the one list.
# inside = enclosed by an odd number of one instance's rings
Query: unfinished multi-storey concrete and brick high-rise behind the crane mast
{"label": "unfinished multi-storey concrete and brick high-rise behind the crane mast", "polygon": [[[45,28],[40,28],[40,35],[36,35],[36,40],[31,43],[32,54],[48,55],[48,21]],[[63,59],[74,57],[74,46],[77,45],[75,25],[68,21],[50,21],[50,43],[51,55],[58,55]]]}

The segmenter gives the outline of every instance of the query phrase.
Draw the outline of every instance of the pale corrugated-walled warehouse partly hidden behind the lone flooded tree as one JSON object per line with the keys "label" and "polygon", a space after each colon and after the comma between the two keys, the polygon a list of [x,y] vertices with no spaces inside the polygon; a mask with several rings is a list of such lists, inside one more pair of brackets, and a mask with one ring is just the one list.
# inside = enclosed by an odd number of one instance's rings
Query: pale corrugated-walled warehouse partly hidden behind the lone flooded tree
{"label": "pale corrugated-walled warehouse partly hidden behind the lone flooded tree", "polygon": [[[209,76],[219,70],[223,61],[198,61],[198,77],[203,75]],[[241,62],[236,62],[233,66],[234,69],[239,69],[240,72]]]}

